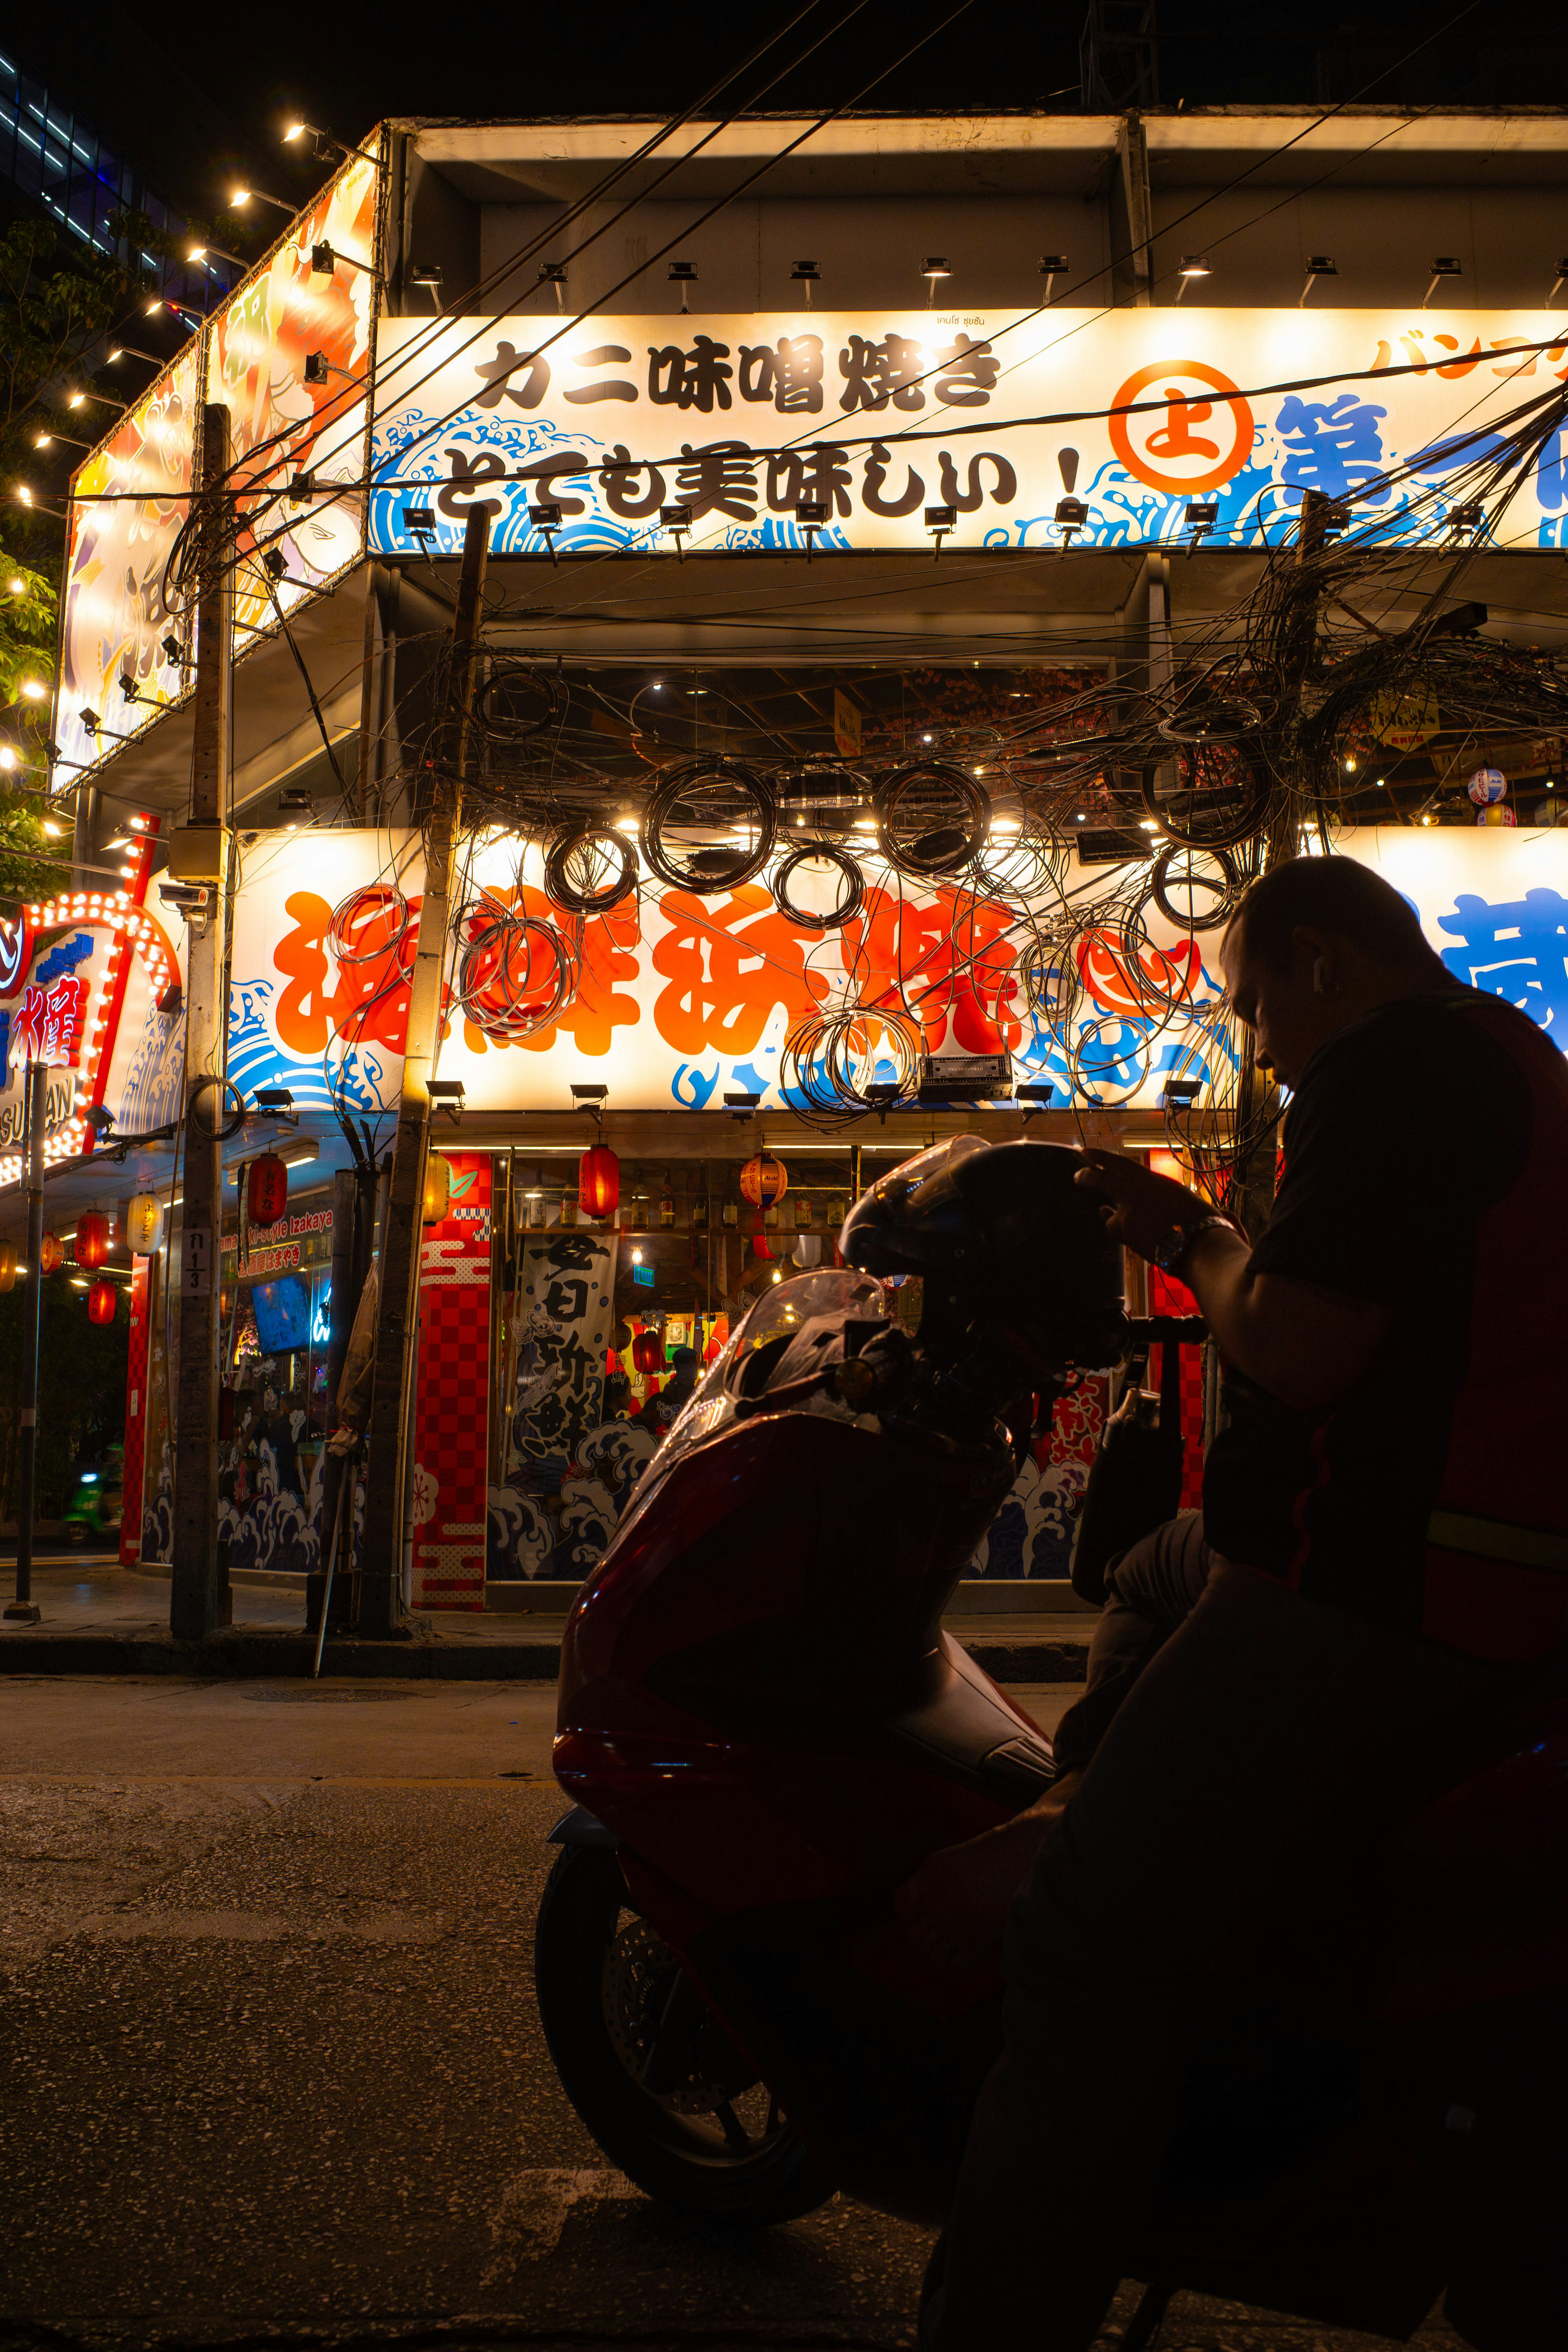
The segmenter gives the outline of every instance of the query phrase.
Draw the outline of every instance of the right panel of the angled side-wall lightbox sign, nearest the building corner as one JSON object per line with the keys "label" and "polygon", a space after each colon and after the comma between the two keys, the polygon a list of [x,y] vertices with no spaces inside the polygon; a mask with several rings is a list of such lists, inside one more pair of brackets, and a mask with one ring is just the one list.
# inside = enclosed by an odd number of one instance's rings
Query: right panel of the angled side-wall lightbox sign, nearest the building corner
{"label": "right panel of the angled side-wall lightbox sign, nearest the building corner", "polygon": [[[240,515],[235,652],[355,562],[364,515],[364,383],[376,320],[378,167],[353,158],[207,334],[207,397],[228,407],[252,492]],[[315,268],[327,261],[331,268]],[[292,492],[301,475],[310,487]],[[268,581],[256,543],[282,555]]]}

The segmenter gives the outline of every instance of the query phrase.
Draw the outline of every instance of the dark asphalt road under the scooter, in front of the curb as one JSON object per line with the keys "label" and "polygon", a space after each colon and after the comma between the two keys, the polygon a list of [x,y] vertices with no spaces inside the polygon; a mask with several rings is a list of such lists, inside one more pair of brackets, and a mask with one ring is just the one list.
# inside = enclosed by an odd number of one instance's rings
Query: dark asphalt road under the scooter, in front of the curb
{"label": "dark asphalt road under the scooter, in front of the curb", "polygon": [[[7,1682],[5,2352],[912,2343],[929,2232],[844,2199],[682,2223],[557,2089],[552,1696]],[[1182,2298],[1161,2352],[1366,2343]]]}

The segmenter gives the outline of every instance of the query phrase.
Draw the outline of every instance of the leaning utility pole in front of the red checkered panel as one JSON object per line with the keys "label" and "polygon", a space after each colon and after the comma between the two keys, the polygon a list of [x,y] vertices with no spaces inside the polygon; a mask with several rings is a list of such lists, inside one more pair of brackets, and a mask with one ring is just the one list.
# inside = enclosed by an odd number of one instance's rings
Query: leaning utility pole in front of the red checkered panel
{"label": "leaning utility pole in front of the red checkered panel", "polygon": [[489,557],[489,515],[473,508],[463,534],[463,576],[451,630],[451,680],[433,779],[435,804],[425,826],[425,896],[418,910],[418,943],[409,981],[409,1035],[402,1051],[402,1101],[393,1145],[393,1192],[381,1249],[381,1303],[376,1319],[376,1381],[364,1468],[364,1529],[360,1573],[360,1623],[364,1639],[402,1632],[402,1498],[407,1432],[414,1411],[409,1367],[418,1312],[418,1211],[425,1190],[430,1141],[430,1063],[442,1021],[447,974],[447,922],[451,863],[463,821],[463,769],[480,652],[480,597]]}

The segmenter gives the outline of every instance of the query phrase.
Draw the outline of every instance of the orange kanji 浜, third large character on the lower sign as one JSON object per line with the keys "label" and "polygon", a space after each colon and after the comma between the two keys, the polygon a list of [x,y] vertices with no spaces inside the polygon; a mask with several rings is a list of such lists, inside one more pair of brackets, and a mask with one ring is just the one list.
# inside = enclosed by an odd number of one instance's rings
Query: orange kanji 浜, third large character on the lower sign
{"label": "orange kanji \u6d5c, third large character on the lower sign", "polygon": [[755,882],[715,906],[684,889],[658,901],[670,924],[654,948],[654,971],[670,985],[654,1004],[654,1028],[677,1054],[750,1054],[778,1004],[790,1021],[816,1011],[827,981],[806,969],[813,931],[778,915]]}

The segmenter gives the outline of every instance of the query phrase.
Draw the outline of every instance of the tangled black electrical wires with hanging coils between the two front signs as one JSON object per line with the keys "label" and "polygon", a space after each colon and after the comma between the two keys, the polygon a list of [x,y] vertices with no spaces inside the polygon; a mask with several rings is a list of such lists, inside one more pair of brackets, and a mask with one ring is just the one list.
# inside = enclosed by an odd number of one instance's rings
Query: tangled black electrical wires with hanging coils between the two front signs
{"label": "tangled black electrical wires with hanging coils between the two front signs", "polygon": [[[463,896],[451,1004],[498,1042],[538,1035],[581,985],[588,924],[632,936],[642,891],[665,889],[701,929],[705,901],[766,880],[802,943],[785,1000],[799,1007],[802,960],[813,1000],[780,1047],[804,1117],[912,1103],[931,1035],[964,1035],[961,1014],[971,1040],[1009,1040],[1072,1105],[1159,1089],[1171,1148],[1225,1197],[1276,1122],[1204,964],[1248,882],[1328,849],[1373,760],[1387,816],[1418,823],[1488,739],[1568,739],[1568,663],[1481,635],[1486,609],[1462,600],[1566,419],[1552,383],[1338,499],[1307,492],[1267,517],[1248,593],[1171,628],[1164,670],[1079,673],[1018,715],[931,720],[919,748],[905,722],[882,757],[802,757],[743,680],[719,701],[745,757],[649,755],[646,689],[628,706],[559,659],[489,659],[461,746],[465,826],[517,844],[517,887]],[[428,715],[447,706],[449,654],[430,652],[425,722],[402,727],[388,779],[416,814],[454,757]],[[1401,729],[1429,774],[1406,762],[1401,779]],[[522,903],[529,849],[550,920]],[[397,891],[378,906],[334,917],[350,969],[357,953],[369,967],[369,943],[388,957],[364,990],[371,1021],[402,985]]]}

